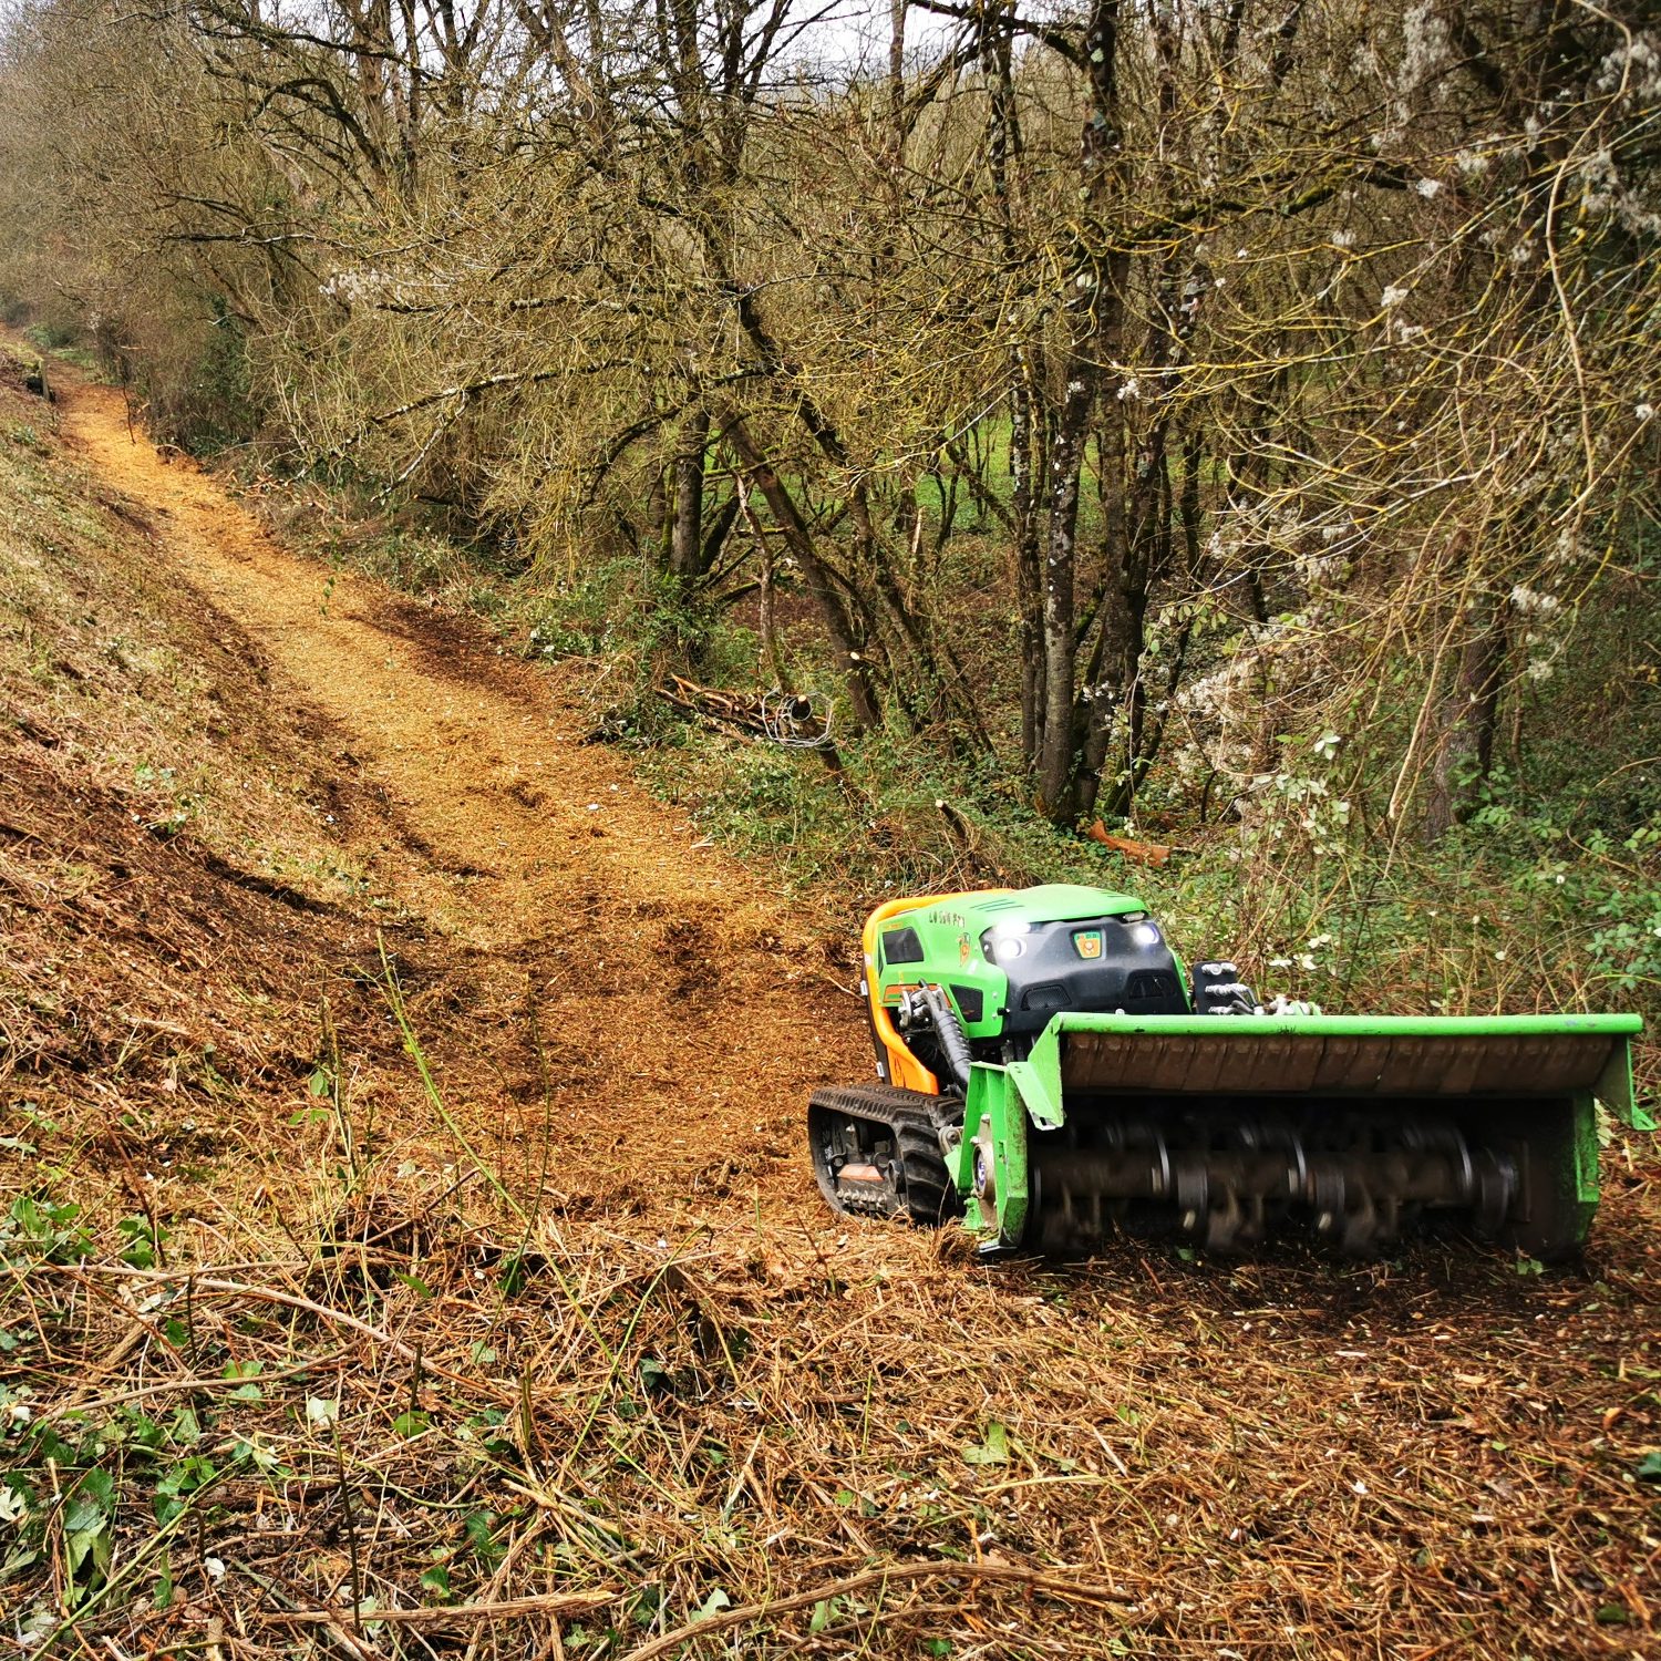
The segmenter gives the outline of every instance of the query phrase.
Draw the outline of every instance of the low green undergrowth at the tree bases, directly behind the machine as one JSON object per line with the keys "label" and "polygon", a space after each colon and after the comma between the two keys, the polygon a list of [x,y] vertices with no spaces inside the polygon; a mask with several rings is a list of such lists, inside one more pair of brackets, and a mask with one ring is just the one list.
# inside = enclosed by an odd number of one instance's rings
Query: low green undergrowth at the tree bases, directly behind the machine
{"label": "low green undergrowth at the tree bases, directly behind the machine", "polygon": [[1143,832],[1154,857],[1169,849],[1149,865],[879,749],[844,752],[859,784],[812,756],[688,731],[643,746],[639,766],[711,837],[837,885],[850,927],[892,894],[1083,882],[1146,899],[1191,957],[1234,955],[1259,987],[1334,1008],[1661,1015],[1661,816],[1614,840],[1573,804],[1513,806],[1497,781],[1470,824],[1404,850],[1387,835],[1322,842],[1292,794],[1249,826]]}

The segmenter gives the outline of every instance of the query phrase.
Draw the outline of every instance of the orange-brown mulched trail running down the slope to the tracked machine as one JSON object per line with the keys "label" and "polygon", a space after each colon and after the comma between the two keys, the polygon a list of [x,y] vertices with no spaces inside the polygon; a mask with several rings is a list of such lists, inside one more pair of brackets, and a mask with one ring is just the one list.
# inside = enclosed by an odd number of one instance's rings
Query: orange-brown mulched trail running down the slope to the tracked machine
{"label": "orange-brown mulched trail running down the slope to the tracked machine", "polygon": [[[561,1188],[654,1209],[814,1204],[806,1091],[859,1076],[857,1018],[819,933],[578,744],[546,673],[379,583],[286,553],[188,458],[135,437],[120,392],[65,379],[63,427],[154,527],[158,560],[264,654],[271,698],[321,711],[392,835],[349,844],[460,950],[527,977],[555,1073]],[[852,930],[852,920],[849,932]],[[533,1091],[500,1095],[515,1108]],[[540,1096],[540,1091],[535,1091]],[[540,1113],[540,1101],[535,1111]]]}

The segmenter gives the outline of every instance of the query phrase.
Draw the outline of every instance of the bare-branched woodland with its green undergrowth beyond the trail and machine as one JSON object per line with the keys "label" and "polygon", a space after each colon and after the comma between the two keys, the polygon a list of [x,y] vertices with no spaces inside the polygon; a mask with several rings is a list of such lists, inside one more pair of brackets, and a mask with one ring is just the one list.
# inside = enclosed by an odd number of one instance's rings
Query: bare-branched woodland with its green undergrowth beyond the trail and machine
{"label": "bare-branched woodland with its green undergrowth beyond the trail and machine", "polygon": [[0,296],[332,556],[595,659],[804,879],[1070,872],[1352,1007],[1654,1010],[1649,8],[862,22],[18,5]]}

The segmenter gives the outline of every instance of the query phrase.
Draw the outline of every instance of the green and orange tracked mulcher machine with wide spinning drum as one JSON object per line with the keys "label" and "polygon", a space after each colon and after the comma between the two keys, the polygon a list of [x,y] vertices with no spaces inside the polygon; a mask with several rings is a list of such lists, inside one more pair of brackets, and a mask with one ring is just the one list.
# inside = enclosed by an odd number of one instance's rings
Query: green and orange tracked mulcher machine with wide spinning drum
{"label": "green and orange tracked mulcher machine with wide spinning drum", "polygon": [[1266,1010],[1106,889],[892,900],[864,957],[879,1083],[814,1091],[819,1188],[849,1216],[962,1216],[988,1252],[1124,1229],[1372,1254],[1440,1222],[1560,1259],[1598,1209],[1596,1103],[1654,1129],[1636,1015]]}

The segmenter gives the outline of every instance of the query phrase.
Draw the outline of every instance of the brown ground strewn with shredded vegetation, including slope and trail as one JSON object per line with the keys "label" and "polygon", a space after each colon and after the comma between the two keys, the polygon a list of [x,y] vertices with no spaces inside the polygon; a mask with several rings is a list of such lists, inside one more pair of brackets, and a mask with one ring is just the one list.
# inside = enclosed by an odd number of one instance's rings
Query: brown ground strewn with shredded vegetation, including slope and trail
{"label": "brown ground strewn with shredded vegetation, including slope and trail", "polygon": [[28,1653],[1654,1654],[1639,1138],[1576,1272],[847,1226],[862,897],[60,390],[0,362]]}

